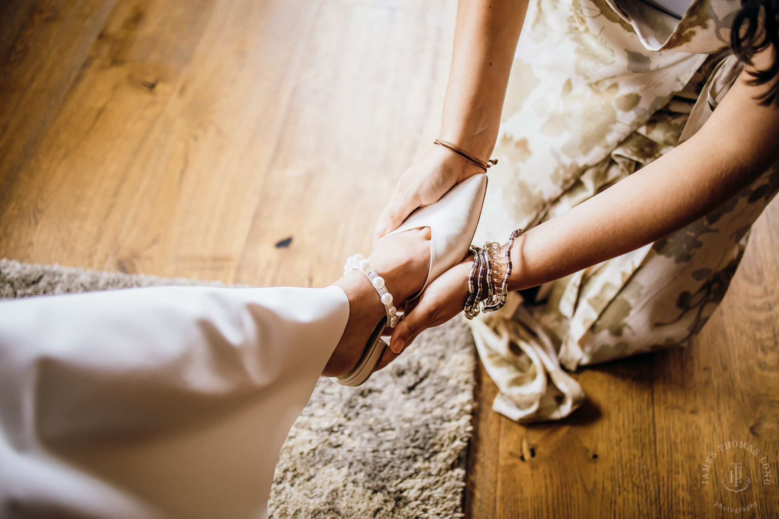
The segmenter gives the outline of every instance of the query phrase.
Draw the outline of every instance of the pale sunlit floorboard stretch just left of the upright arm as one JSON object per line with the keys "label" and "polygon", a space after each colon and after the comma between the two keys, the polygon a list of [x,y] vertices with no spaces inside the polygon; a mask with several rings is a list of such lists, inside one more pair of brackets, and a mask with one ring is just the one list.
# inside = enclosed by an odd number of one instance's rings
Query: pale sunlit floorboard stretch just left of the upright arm
{"label": "pale sunlit floorboard stretch just left of the upright arm", "polygon": [[238,282],[326,286],[348,255],[370,251],[397,178],[439,130],[449,72],[452,9],[409,3],[319,9]]}

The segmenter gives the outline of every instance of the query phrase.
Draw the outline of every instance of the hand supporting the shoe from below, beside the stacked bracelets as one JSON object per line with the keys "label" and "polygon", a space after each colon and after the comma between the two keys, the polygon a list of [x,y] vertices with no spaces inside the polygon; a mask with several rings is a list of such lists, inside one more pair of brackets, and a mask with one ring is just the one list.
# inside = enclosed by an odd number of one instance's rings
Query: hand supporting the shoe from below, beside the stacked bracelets
{"label": "hand supporting the shoe from below, beside the stacked bracelets", "polygon": [[438,326],[463,311],[468,297],[468,275],[474,264],[473,257],[449,268],[430,283],[419,302],[395,327],[390,338],[390,349],[399,354],[417,338],[425,328]]}

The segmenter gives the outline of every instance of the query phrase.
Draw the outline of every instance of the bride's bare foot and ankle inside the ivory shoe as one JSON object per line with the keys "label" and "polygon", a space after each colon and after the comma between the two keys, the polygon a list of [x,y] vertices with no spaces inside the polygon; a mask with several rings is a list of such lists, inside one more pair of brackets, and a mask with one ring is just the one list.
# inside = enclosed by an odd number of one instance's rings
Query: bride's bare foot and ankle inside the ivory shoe
{"label": "bride's bare foot and ankle inside the ivory shoe", "polygon": [[[430,228],[408,230],[385,238],[368,260],[384,279],[395,306],[399,307],[425,285],[430,268]],[[361,272],[354,270],[333,285],[343,289],[349,299],[349,320],[322,372],[326,377],[346,373],[357,364],[376,324],[386,315],[379,293]],[[381,367],[395,357],[389,349],[387,352]]]}

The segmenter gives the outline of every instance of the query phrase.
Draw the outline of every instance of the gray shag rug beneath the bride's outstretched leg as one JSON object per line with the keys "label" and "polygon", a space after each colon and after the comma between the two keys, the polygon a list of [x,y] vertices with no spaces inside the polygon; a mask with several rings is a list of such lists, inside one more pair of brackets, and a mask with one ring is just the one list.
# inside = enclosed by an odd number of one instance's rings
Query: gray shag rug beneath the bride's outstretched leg
{"label": "gray shag rug beneath the bride's outstretched leg", "polygon": [[[0,299],[164,285],[224,286],[0,260]],[[270,517],[463,517],[474,367],[453,319],[361,387],[320,378],[281,450]]]}

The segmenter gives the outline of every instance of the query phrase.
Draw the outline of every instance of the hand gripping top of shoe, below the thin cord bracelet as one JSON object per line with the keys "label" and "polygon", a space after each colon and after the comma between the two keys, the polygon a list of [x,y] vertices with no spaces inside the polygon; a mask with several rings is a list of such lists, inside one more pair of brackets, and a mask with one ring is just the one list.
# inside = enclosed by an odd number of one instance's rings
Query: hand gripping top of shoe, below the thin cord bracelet
{"label": "hand gripping top of shoe, below the thin cord bracelet", "polygon": [[482,170],[476,164],[433,145],[422,159],[400,177],[390,203],[386,205],[373,233],[373,246],[379,238],[395,230],[414,209],[438,202],[454,184]]}

